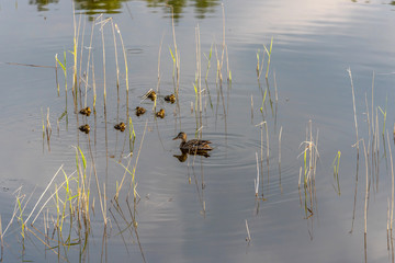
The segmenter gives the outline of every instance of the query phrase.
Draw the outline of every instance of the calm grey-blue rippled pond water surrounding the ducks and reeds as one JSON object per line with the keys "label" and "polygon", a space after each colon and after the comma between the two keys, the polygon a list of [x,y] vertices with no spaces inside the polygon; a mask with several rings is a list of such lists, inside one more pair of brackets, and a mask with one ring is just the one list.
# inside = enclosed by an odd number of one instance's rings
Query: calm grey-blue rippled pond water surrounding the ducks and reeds
{"label": "calm grey-blue rippled pond water surrounding the ducks and reeds", "polygon": [[[173,8],[181,72],[177,105],[163,102],[163,96],[174,90],[173,62],[169,52],[169,48],[174,50],[171,12],[163,2],[75,1],[76,22],[80,23],[79,56],[83,36],[81,75],[87,70],[91,28],[92,23],[95,23],[91,56],[94,59],[98,93],[97,114],[91,114],[88,118],[77,115],[74,110],[74,61],[68,52],[72,49],[74,37],[71,2],[0,2],[2,229],[5,229],[12,218],[18,195],[15,190],[23,186],[20,195],[26,196],[23,203],[27,204],[23,213],[23,219],[26,219],[60,165],[64,165],[68,175],[76,171],[75,146],[79,146],[88,159],[87,170],[88,174],[92,174],[90,187],[92,198],[94,197],[92,230],[82,254],[80,249],[83,241],[81,245],[70,247],[67,252],[61,249],[60,258],[46,250],[33,233],[27,233],[22,242],[21,220],[14,218],[4,235],[4,262],[123,262],[129,259],[135,262],[364,261],[365,170],[362,151],[356,220],[350,233],[357,150],[352,147],[356,142],[356,129],[347,69],[350,67],[352,70],[356,88],[359,137],[366,142],[369,140],[365,95],[371,113],[373,72],[373,106],[379,116],[379,133],[382,133],[384,124],[381,110],[386,108],[385,129],[392,136],[395,121],[395,76],[392,75],[395,65],[394,7],[390,1],[225,1],[225,39],[232,84],[226,81],[226,60],[222,70],[222,85],[216,81],[216,56],[213,50],[205,85],[207,60],[204,55],[208,56],[212,45],[216,46],[218,56],[222,53],[222,4],[219,1],[179,1],[179,5]],[[120,206],[125,216],[117,211],[113,202],[116,185],[125,173],[119,162],[127,165],[129,142],[127,130],[120,133],[113,129],[117,122],[127,122],[127,106],[120,38],[116,38],[120,65],[117,95],[111,23],[103,27],[106,56],[104,113],[102,36],[100,24],[94,22],[103,12],[104,19],[113,18],[119,25],[127,54],[128,107],[136,133],[132,165],[136,162],[142,145],[136,168],[137,192],[140,195],[136,206],[138,239],[134,228],[129,227],[132,218],[125,201],[131,184],[129,176],[126,176],[126,186],[120,194]],[[198,25],[202,53],[202,89],[210,91],[212,102],[211,106],[210,98],[203,98],[205,106],[202,132],[203,138],[213,141],[214,150],[208,158],[190,156],[184,162],[180,162],[174,158],[180,156],[179,141],[173,141],[172,138],[181,130],[192,138],[196,129],[191,102],[195,102],[193,82],[196,71]],[[257,50],[261,52],[261,58],[263,44],[269,46],[271,37],[273,49],[268,82],[264,80],[266,66],[258,82]],[[149,89],[157,89],[160,46],[160,94],[157,110],[165,108],[166,117],[156,119],[151,113],[153,102],[143,100],[142,96]],[[65,92],[65,79],[58,66],[58,95],[53,67],[56,54],[63,61],[64,50],[67,53],[68,91]],[[90,67],[87,92],[87,105],[90,106],[93,104],[91,70]],[[268,85],[270,98],[267,96],[262,114],[260,107]],[[78,98],[78,108],[84,104],[84,83],[80,87],[82,98]],[[272,108],[269,100],[273,103]],[[145,106],[147,113],[135,116],[134,108],[137,105]],[[43,138],[42,130],[47,108],[53,129],[49,144]],[[63,116],[66,108],[67,115]],[[371,119],[371,114],[369,117]],[[319,132],[317,145],[320,158],[317,162],[315,203],[314,206],[308,205],[314,214],[308,214],[306,218],[304,196],[302,194],[301,201],[297,184],[300,168],[303,167],[303,156],[298,156],[304,150],[300,146],[306,140],[309,119],[314,135]],[[257,175],[256,152],[259,158],[261,155],[261,129],[256,125],[263,121],[268,125],[269,141],[263,128],[263,163],[260,172],[264,180],[263,186],[261,184],[259,187],[260,198],[257,199],[253,180]],[[78,130],[78,126],[86,123],[91,126],[89,136]],[[142,142],[146,123],[147,129]],[[340,195],[335,191],[331,167],[338,151],[341,151]],[[387,141],[384,150],[381,138],[380,173],[374,182],[371,181],[370,188],[365,250],[369,262],[392,261],[387,251],[386,232],[387,198],[391,196],[387,156]],[[92,172],[92,159],[101,190],[103,191],[102,185],[105,183],[108,195],[110,224],[104,244],[103,217]],[[55,182],[57,185],[64,182],[64,174],[59,174]],[[52,185],[44,201],[54,191],[55,185]],[[31,193],[33,195],[29,199]],[[261,198],[262,194],[264,199]],[[40,208],[44,201],[41,201]],[[54,206],[55,201],[46,205],[52,218],[56,215]],[[246,242],[246,220],[251,235],[249,243]],[[35,227],[44,231],[43,216],[38,217]],[[126,231],[120,233],[120,229]],[[33,231],[40,236],[37,231]],[[77,242],[76,230],[71,232],[72,241]],[[50,245],[55,247],[56,242]]]}

